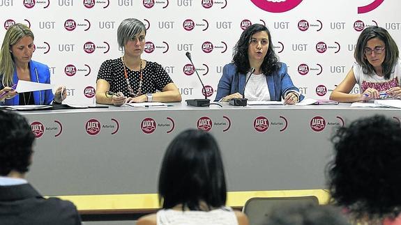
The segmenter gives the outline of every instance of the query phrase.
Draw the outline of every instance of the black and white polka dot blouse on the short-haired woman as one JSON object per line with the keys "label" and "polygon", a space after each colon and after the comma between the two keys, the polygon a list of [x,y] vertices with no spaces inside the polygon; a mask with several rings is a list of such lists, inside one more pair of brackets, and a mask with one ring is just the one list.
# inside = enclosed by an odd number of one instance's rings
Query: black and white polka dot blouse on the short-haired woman
{"label": "black and white polka dot blouse on the short-haired woman", "polygon": [[[128,79],[130,80],[130,86],[133,88],[134,93],[137,93],[140,72],[130,70],[129,68],[126,68],[126,70]],[[173,82],[165,69],[158,63],[146,61],[145,68],[142,70],[142,94],[162,91],[167,84]],[[121,58],[104,61],[102,65],[100,65],[97,79],[105,79],[109,82],[109,91],[114,93],[122,92],[126,97],[130,97]]]}

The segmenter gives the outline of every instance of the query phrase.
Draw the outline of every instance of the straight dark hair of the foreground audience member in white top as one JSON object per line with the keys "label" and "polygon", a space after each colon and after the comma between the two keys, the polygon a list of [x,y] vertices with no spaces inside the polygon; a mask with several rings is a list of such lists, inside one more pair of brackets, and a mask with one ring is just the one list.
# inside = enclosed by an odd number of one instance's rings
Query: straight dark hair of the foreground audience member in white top
{"label": "straight dark hair of the foreground audience member in white top", "polygon": [[169,144],[162,161],[158,187],[162,208],[182,204],[201,210],[225,205],[225,173],[218,143],[202,130],[181,132]]}

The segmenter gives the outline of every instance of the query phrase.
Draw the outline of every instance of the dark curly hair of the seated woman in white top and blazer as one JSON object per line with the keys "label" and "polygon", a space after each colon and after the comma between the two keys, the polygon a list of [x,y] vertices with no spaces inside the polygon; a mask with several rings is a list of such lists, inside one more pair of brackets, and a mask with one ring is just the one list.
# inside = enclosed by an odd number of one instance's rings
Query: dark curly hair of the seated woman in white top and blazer
{"label": "dark curly hair of the seated woman in white top and blazer", "polygon": [[250,63],[248,59],[248,47],[252,35],[260,31],[266,31],[268,35],[268,51],[264,57],[263,63],[260,66],[264,75],[269,76],[280,68],[278,56],[274,52],[273,43],[271,42],[270,31],[262,24],[252,24],[242,32],[241,37],[234,46],[232,63],[236,65],[238,72],[246,74],[250,70]]}

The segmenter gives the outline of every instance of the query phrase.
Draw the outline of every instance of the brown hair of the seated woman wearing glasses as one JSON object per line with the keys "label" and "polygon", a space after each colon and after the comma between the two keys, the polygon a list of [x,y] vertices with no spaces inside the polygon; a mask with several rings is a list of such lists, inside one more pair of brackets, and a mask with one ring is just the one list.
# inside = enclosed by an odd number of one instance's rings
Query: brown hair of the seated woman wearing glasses
{"label": "brown hair of the seated woman wearing glasses", "polygon": [[368,41],[372,38],[379,38],[379,40],[384,42],[384,54],[386,54],[386,57],[384,58],[382,66],[384,77],[388,79],[391,72],[393,72],[393,67],[397,63],[400,53],[397,44],[386,29],[380,26],[368,26],[365,28],[356,42],[354,58],[356,62],[362,66],[363,72],[366,74],[374,73],[373,65],[369,63],[365,56],[365,47]]}

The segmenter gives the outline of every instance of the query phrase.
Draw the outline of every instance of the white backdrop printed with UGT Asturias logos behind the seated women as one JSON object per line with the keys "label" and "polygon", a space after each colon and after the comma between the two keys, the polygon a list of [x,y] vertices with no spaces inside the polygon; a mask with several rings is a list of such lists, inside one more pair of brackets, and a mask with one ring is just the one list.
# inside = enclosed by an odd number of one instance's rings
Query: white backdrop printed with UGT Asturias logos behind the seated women
{"label": "white backdrop printed with UGT Asturias logos behind the seated women", "polygon": [[100,64],[122,55],[116,29],[135,17],[147,29],[142,58],[162,64],[184,100],[202,94],[214,100],[241,32],[262,23],[294,84],[310,98],[328,99],[354,63],[365,26],[388,29],[401,45],[400,6],[390,0],[0,0],[0,36],[15,22],[30,26],[33,60],[50,66],[52,83],[67,86],[66,102],[92,104]]}

